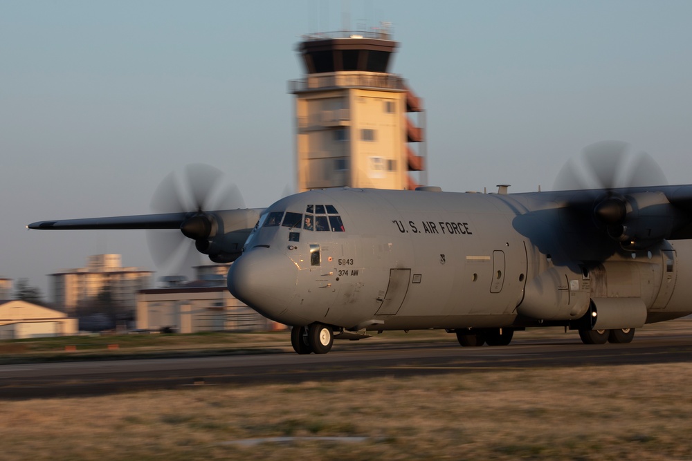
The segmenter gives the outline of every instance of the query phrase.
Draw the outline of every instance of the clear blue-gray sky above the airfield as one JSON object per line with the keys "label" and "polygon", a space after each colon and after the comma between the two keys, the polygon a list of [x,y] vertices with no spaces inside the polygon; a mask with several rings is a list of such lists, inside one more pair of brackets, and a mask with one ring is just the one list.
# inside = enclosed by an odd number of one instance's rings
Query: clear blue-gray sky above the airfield
{"label": "clear blue-gray sky above the airfield", "polygon": [[692,1],[0,0],[0,276],[45,295],[89,254],[155,269],[143,231],[24,227],[146,214],[188,163],[273,203],[295,182],[300,35],[380,21],[424,98],[430,185],[550,189],[610,139],[692,182]]}

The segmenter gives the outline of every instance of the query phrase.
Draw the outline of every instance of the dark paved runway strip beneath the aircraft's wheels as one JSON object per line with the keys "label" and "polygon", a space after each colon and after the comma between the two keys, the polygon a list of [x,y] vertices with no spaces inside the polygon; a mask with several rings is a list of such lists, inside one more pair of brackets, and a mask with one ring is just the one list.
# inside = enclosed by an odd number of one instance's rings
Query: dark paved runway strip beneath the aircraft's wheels
{"label": "dark paved runway strip beneath the aircraft's wheels", "polygon": [[618,366],[692,361],[692,337],[635,337],[631,344],[585,346],[577,339],[520,340],[510,346],[337,342],[329,354],[285,352],[221,357],[78,361],[0,366],[0,398],[103,395],[138,389],[403,377],[470,370]]}

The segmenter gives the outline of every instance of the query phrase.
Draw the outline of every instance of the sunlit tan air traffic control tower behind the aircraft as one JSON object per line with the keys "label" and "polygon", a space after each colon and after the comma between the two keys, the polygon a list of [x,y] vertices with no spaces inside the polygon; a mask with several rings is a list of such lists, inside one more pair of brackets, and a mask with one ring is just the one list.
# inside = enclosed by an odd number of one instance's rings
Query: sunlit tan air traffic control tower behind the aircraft
{"label": "sunlit tan air traffic control tower behind the aircraft", "polygon": [[395,48],[387,28],[307,35],[298,44],[305,75],[289,82],[298,192],[427,182],[425,114],[406,81],[389,72]]}

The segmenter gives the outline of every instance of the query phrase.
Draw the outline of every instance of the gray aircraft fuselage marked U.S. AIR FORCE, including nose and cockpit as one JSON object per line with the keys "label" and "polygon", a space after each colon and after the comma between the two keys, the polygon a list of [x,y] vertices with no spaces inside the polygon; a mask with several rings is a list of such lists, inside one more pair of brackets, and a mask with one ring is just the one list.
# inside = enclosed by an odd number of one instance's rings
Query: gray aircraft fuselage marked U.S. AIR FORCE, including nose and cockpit
{"label": "gray aircraft fuselage marked U.S. AIR FORCE, including nose and cockpit", "polygon": [[[635,328],[692,312],[689,241],[626,251],[564,194],[325,189],[264,211],[228,288],[291,326]],[[306,225],[306,218],[310,223]],[[318,230],[318,224],[327,225]],[[308,228],[306,228],[308,227]],[[607,313],[607,315],[606,315]],[[600,321],[600,320],[599,320]]]}

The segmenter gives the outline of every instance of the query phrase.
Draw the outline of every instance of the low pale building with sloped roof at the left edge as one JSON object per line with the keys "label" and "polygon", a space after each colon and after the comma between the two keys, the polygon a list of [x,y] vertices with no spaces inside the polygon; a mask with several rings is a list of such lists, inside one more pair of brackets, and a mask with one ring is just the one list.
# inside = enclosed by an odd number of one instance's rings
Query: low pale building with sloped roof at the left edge
{"label": "low pale building with sloped roof at the left edge", "polygon": [[0,339],[77,335],[77,319],[26,301],[0,301]]}

